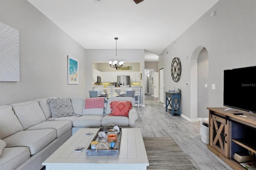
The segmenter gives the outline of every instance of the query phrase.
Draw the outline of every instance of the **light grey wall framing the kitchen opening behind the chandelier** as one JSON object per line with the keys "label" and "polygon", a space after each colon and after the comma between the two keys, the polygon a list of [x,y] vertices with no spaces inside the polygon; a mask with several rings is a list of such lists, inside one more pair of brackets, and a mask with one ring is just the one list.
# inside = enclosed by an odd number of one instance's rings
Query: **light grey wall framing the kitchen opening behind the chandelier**
{"label": "light grey wall framing the kitchen opening behind the chandelier", "polygon": [[[141,64],[140,72],[144,73],[144,49],[118,49],[118,61],[139,62]],[[89,97],[88,91],[92,89],[92,68],[93,63],[103,63],[115,59],[116,49],[86,49],[86,97]],[[145,103],[144,74],[142,74],[142,104]]]}

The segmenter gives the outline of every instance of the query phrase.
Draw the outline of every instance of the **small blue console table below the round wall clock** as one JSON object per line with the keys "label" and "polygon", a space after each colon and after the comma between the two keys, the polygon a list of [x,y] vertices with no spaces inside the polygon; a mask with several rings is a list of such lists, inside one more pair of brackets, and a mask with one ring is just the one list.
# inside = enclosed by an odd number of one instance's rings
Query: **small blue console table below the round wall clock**
{"label": "small blue console table below the round wall clock", "polygon": [[[168,91],[165,93],[165,111],[171,112],[172,116],[174,116],[174,114],[180,116],[180,93],[170,93]],[[168,107],[170,109],[168,109]]]}

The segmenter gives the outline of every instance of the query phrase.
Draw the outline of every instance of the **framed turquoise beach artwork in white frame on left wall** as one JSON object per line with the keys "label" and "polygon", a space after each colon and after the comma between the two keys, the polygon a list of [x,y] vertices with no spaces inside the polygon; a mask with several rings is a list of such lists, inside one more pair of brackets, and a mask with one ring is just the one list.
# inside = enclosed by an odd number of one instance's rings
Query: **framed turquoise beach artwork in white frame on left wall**
{"label": "framed turquoise beach artwork in white frame on left wall", "polygon": [[68,84],[78,84],[78,60],[68,55]]}

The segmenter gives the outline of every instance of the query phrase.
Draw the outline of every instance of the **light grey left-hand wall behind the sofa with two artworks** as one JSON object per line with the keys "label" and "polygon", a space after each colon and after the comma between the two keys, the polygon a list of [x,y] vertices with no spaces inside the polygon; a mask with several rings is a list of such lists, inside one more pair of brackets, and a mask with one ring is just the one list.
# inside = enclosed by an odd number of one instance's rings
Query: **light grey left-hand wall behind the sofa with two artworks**
{"label": "light grey left-hand wall behind the sofa with two artworks", "polygon": [[[20,82],[0,82],[0,105],[43,97],[85,97],[85,49],[26,0],[1,0],[0,21],[19,30]],[[67,55],[79,60],[68,85]]]}

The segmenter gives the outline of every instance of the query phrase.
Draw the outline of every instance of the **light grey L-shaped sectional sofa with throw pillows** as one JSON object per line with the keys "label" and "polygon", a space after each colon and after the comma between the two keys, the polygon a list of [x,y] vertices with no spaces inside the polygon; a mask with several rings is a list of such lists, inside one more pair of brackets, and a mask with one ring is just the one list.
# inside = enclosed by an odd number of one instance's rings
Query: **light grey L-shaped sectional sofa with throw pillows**
{"label": "light grey L-shaped sectional sofa with throw pillows", "polygon": [[[42,162],[79,128],[111,123],[135,127],[138,115],[134,98],[110,97],[97,102],[90,99],[50,97],[0,106],[0,170],[40,170]],[[99,105],[100,102],[104,104]],[[130,103],[128,113],[118,115],[118,109],[123,112],[127,105],[116,103],[124,102]]]}

